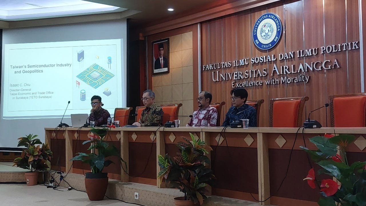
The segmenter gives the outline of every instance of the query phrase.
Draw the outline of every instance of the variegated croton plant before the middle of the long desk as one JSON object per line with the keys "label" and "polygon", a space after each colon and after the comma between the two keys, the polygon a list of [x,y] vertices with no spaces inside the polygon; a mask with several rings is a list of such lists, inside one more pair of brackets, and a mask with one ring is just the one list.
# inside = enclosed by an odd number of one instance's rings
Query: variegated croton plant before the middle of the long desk
{"label": "variegated croton plant before the middle of the long desk", "polygon": [[212,185],[212,179],[215,179],[213,172],[208,165],[210,160],[205,154],[212,148],[205,142],[198,139],[190,133],[192,141],[184,138],[186,142],[178,142],[179,148],[177,156],[172,158],[168,154],[165,157],[158,156],[158,164],[161,171],[158,178],[165,182],[168,187],[174,187],[184,193],[183,197],[174,198],[178,205],[202,205],[208,192],[207,186]]}

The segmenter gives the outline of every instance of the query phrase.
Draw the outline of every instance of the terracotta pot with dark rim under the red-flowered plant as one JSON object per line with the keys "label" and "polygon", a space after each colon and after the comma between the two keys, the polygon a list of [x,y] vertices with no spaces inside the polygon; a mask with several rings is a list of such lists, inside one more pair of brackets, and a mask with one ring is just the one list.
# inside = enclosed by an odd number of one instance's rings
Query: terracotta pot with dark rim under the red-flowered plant
{"label": "terracotta pot with dark rim under the red-flowered plant", "polygon": [[107,187],[108,177],[85,178],[85,189],[90,201],[103,200]]}

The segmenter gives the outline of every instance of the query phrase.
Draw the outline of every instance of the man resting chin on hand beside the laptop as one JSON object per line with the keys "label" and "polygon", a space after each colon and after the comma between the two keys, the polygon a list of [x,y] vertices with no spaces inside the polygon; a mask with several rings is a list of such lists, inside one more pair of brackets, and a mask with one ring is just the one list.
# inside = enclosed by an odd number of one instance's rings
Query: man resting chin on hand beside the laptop
{"label": "man resting chin on hand beside the laptop", "polygon": [[89,122],[95,121],[95,126],[101,126],[107,124],[108,117],[111,117],[106,109],[102,108],[102,98],[94,95],[91,97],[91,110],[89,116]]}

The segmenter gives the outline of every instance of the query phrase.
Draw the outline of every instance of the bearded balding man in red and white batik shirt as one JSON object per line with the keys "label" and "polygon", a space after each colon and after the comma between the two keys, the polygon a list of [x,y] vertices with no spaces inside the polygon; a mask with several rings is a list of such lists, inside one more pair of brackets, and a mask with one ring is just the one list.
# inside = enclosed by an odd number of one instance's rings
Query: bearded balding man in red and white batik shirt
{"label": "bearded balding man in red and white batik shirt", "polygon": [[193,117],[186,127],[215,127],[217,121],[217,110],[210,106],[212,94],[209,91],[201,91],[198,94],[197,104],[199,109],[193,112]]}

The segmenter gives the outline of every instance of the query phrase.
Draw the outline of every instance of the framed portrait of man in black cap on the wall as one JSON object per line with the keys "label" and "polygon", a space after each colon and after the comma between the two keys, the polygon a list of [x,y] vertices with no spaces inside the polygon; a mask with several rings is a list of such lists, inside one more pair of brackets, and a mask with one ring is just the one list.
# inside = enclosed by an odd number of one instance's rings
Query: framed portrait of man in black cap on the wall
{"label": "framed portrait of man in black cap on the wall", "polygon": [[153,41],[153,75],[169,73],[169,38]]}

